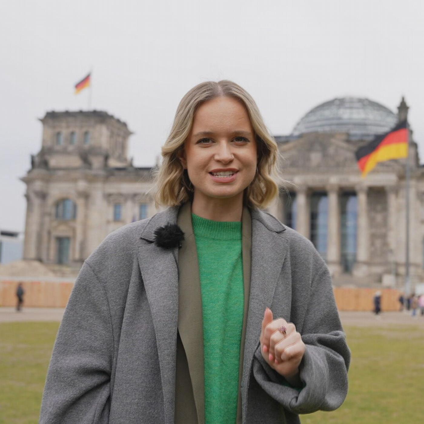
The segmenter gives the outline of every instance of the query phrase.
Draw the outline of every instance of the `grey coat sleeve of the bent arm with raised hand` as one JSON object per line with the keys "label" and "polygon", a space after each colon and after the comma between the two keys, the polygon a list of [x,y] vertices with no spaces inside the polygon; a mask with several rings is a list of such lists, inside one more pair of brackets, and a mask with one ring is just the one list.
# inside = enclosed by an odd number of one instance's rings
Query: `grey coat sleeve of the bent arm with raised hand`
{"label": "grey coat sleeve of the bent arm with raised hand", "polygon": [[299,366],[302,388],[293,388],[255,351],[254,377],[268,395],[291,413],[335,410],[346,398],[350,350],[346,343],[331,277],[325,264],[315,273],[301,329],[306,345]]}

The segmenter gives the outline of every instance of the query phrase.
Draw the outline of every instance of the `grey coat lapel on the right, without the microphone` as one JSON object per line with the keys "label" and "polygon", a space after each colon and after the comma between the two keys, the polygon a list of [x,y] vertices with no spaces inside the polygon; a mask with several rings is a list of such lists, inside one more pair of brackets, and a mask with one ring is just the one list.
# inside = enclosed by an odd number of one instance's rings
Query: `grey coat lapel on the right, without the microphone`
{"label": "grey coat lapel on the right, without the microphone", "polygon": [[[243,404],[246,402],[248,379],[254,352],[259,346],[265,308],[271,307],[276,284],[279,281],[287,253],[287,246],[280,235],[285,231],[284,226],[271,215],[258,209],[252,209],[251,215],[251,283],[241,383]],[[289,283],[287,282],[287,284]],[[290,314],[290,296],[287,296],[285,304],[281,306],[281,310],[285,311],[288,316]]]}

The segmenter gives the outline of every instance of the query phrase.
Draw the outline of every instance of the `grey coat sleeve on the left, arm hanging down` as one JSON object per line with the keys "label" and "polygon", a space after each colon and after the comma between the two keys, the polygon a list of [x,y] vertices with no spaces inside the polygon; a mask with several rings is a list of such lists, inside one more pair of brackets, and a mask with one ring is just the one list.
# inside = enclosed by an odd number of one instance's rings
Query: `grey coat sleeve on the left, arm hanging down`
{"label": "grey coat sleeve on the left, arm hanging down", "polygon": [[53,348],[40,424],[108,423],[113,351],[106,292],[84,262]]}

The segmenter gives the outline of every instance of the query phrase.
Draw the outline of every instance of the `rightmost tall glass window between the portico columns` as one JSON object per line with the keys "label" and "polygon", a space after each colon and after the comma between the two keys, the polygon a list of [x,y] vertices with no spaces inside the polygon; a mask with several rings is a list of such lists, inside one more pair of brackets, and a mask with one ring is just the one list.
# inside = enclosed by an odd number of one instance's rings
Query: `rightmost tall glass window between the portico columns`
{"label": "rightmost tall glass window between the portico columns", "polygon": [[352,272],[356,262],[358,202],[356,193],[340,196],[340,254],[344,272]]}

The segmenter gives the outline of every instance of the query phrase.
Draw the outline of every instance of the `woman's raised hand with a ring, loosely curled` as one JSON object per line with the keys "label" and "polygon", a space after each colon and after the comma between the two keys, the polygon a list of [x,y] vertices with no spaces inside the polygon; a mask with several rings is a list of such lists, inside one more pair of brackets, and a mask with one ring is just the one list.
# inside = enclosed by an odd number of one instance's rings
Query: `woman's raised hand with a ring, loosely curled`
{"label": "woman's raised hand with a ring, loosely curled", "polygon": [[[285,334],[279,331],[285,327]],[[273,319],[271,309],[265,309],[260,337],[262,357],[293,386],[301,386],[299,364],[305,353],[301,335],[292,323]]]}

